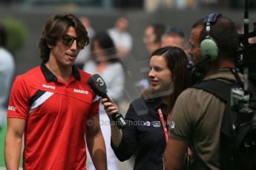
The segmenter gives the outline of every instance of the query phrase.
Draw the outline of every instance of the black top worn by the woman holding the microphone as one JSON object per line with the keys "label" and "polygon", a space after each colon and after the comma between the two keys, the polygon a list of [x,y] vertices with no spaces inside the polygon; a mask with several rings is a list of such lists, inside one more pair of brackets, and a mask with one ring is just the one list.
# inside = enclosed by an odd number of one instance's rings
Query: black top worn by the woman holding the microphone
{"label": "black top worn by the woman holding the microphone", "polygon": [[163,170],[165,135],[158,108],[162,109],[166,122],[166,105],[160,98],[133,101],[125,116],[127,125],[122,129],[122,140],[118,147],[111,141],[111,147],[120,161],[128,160],[136,154],[134,169]]}

